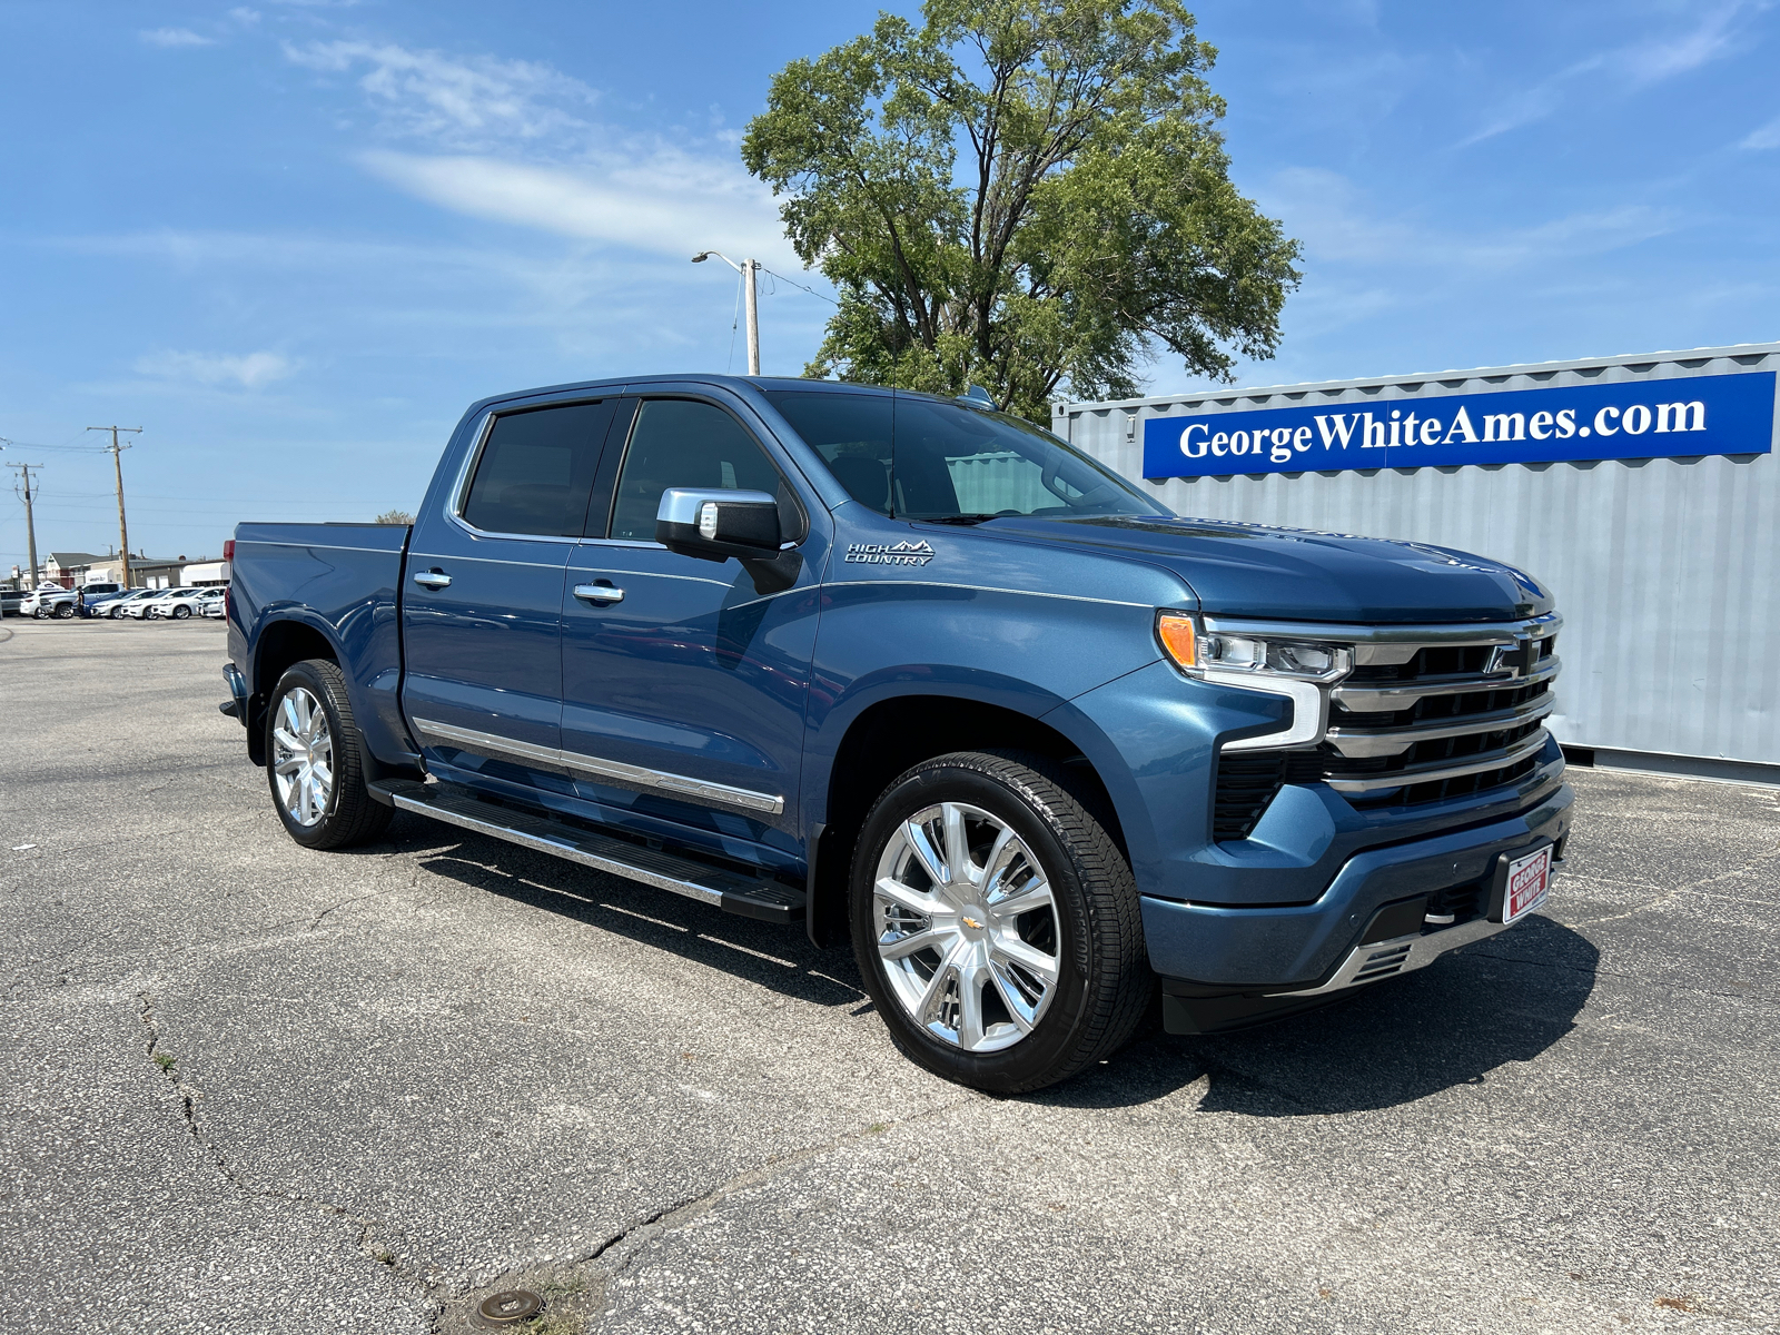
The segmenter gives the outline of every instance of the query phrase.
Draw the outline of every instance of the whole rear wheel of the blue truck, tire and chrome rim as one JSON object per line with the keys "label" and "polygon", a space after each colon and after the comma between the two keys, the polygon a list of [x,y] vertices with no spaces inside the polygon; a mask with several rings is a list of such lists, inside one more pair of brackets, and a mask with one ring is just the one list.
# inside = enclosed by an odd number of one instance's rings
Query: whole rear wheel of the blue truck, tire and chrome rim
{"label": "whole rear wheel of the blue truck, tire and chrome rim", "polygon": [[[272,810],[303,847],[368,844],[390,824],[390,808],[365,790],[361,748],[345,676],[331,659],[308,659],[278,678],[265,712],[265,778]],[[324,760],[326,781],[315,760]]]}

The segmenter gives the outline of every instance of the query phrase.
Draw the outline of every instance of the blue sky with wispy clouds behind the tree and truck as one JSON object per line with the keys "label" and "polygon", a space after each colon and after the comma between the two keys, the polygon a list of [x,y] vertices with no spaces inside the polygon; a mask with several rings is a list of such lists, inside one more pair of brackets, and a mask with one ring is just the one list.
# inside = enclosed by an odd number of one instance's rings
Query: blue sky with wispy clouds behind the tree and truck
{"label": "blue sky with wispy clouds behind the tree and truck", "polygon": [[[1305,242],[1239,383],[1780,338],[1773,5],[1196,12],[1234,176]],[[39,552],[116,543],[87,425],[144,427],[132,546],[196,557],[240,518],[413,507],[484,393],[742,368],[733,272],[687,260],[813,281],[737,141],[874,14],[0,0],[0,461],[44,465]],[[764,368],[826,313],[767,279]]]}

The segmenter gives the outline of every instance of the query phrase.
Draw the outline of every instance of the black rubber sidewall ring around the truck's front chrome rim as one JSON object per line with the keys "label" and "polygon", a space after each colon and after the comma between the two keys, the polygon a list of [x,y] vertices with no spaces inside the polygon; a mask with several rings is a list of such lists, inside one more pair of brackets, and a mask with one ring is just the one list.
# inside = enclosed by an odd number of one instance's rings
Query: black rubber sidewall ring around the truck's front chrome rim
{"label": "black rubber sidewall ring around the truck's front chrome rim", "polygon": [[[1038,858],[1057,908],[1059,967],[1052,995],[1038,1027],[1000,1052],[974,1054],[927,1034],[902,1009],[878,954],[872,885],[890,835],[915,812],[942,801],[979,806],[1006,822]],[[872,806],[860,831],[847,886],[847,917],[853,949],[865,990],[883,1015],[895,1045],[917,1063],[951,1080],[988,1091],[1029,1089],[1048,1084],[1045,1072],[1068,1061],[1080,1043],[1088,1015],[1089,942],[1088,897],[1082,894],[1075,860],[1050,822],[1018,790],[963,764],[920,767],[894,783]]]}

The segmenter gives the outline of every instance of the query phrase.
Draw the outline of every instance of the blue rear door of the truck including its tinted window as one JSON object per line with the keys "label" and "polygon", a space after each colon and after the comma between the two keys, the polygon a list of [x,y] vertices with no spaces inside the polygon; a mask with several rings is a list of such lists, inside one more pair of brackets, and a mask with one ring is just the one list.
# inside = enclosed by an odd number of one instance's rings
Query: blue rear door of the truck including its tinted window
{"label": "blue rear door of the truck including its tinted window", "polygon": [[[417,516],[402,589],[408,719],[434,773],[555,769],[562,577],[612,399],[491,411],[456,486]],[[443,771],[441,771],[443,767]]]}

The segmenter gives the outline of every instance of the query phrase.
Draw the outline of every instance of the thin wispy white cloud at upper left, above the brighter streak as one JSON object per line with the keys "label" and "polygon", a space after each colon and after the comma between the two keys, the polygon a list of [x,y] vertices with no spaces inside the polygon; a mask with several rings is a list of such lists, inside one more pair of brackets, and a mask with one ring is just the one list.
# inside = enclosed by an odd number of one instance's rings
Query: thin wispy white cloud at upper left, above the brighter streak
{"label": "thin wispy white cloud at upper left, above the brighter streak", "polygon": [[591,107],[598,94],[577,78],[530,61],[454,59],[393,43],[328,41],[285,55],[308,69],[368,69],[358,85],[384,130],[443,148],[488,150],[504,142],[584,137],[593,126],[559,103]]}

